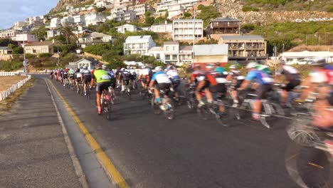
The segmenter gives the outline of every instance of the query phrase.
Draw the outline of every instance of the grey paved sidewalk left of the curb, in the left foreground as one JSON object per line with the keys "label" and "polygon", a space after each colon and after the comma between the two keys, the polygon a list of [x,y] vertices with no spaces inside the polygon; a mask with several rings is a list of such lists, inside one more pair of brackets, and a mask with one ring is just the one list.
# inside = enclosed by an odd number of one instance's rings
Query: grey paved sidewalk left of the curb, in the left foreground
{"label": "grey paved sidewalk left of the curb, in the left foreground", "polygon": [[43,79],[0,116],[0,187],[80,187]]}

